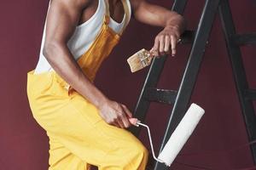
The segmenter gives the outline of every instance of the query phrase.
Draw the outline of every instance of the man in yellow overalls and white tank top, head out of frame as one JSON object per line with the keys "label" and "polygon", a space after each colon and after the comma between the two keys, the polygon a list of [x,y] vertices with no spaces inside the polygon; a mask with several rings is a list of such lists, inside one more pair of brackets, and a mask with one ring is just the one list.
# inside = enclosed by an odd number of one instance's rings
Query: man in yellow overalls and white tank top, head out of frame
{"label": "man in yellow overalls and white tank top, head out of frame", "polygon": [[176,54],[183,17],[145,0],[51,0],[35,70],[27,73],[32,114],[49,136],[49,169],[143,170],[148,151],[125,128],[131,111],[108,99],[93,80],[128,25],[164,29],[154,55]]}

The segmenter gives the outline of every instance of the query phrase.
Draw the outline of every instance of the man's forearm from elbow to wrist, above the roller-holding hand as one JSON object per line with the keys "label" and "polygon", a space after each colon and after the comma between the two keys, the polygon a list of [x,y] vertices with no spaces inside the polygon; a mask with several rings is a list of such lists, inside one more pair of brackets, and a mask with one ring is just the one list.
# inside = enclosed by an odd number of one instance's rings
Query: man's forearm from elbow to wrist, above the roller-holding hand
{"label": "man's forearm from elbow to wrist, above the roller-holding hand", "polygon": [[55,72],[78,91],[79,94],[84,96],[85,99],[89,99],[93,105],[99,107],[108,100],[84,75],[67,45],[58,43],[47,45],[44,48],[44,56]]}

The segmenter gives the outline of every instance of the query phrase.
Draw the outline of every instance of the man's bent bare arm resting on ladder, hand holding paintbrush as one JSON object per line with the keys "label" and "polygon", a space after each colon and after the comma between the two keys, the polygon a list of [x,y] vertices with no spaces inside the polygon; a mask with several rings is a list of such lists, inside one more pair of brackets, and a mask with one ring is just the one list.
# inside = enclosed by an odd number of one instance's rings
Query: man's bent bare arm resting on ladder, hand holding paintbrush
{"label": "man's bent bare arm resting on ladder, hand holding paintbrush", "polygon": [[172,55],[175,55],[177,40],[186,27],[183,16],[145,0],[131,0],[131,6],[137,20],[151,26],[164,27],[164,30],[155,37],[151,51],[155,55],[166,54],[171,47]]}

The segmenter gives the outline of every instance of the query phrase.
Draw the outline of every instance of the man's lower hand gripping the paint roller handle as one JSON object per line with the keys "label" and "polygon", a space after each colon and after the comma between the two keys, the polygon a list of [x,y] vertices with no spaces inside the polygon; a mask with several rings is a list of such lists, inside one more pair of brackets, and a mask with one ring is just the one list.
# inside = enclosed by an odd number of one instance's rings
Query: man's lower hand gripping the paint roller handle
{"label": "man's lower hand gripping the paint roller handle", "polygon": [[99,109],[100,115],[108,124],[121,128],[131,127],[129,118],[132,117],[132,114],[125,105],[108,100]]}

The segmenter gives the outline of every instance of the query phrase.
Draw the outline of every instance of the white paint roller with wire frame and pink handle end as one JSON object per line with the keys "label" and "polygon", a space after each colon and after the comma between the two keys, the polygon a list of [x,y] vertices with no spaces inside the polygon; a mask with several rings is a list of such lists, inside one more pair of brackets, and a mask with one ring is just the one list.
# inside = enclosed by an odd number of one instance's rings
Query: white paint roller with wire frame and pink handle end
{"label": "white paint roller with wire frame and pink handle end", "polygon": [[201,116],[203,116],[204,113],[205,111],[199,105],[194,103],[190,105],[189,110],[186,112],[185,116],[183,116],[182,121],[177,125],[176,129],[172,133],[170,139],[167,141],[164,149],[161,150],[158,157],[154,155],[154,147],[149,127],[137,120],[137,118],[131,118],[130,122],[136,127],[142,126],[147,128],[154,160],[165,163],[166,166],[170,167],[179,151],[182,150],[183,145],[189,139],[189,136],[195,130],[196,125],[200,122]]}

